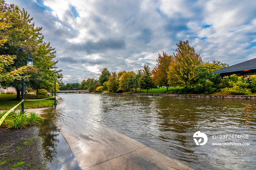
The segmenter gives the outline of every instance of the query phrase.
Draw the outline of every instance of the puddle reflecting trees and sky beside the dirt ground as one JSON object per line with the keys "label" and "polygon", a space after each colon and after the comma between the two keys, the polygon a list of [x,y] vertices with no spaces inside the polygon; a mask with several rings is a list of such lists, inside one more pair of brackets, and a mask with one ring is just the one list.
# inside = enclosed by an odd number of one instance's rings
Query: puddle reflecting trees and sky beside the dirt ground
{"label": "puddle reflecting trees and sky beside the dirt ground", "polygon": [[46,109],[44,114],[41,114],[44,123],[39,129],[39,136],[43,139],[47,167],[51,170],[80,170],[81,168],[71,148],[53,123],[54,113],[54,108],[50,108]]}

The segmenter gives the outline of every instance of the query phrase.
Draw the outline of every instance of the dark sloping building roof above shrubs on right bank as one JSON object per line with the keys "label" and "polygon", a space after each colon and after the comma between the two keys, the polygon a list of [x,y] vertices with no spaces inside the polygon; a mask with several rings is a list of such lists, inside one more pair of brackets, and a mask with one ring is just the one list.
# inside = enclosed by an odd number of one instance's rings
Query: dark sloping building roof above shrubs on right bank
{"label": "dark sloping building roof above shrubs on right bank", "polygon": [[236,74],[237,76],[244,77],[256,74],[256,58],[220,70],[216,70],[213,73],[221,74],[221,76],[229,76],[231,74]]}

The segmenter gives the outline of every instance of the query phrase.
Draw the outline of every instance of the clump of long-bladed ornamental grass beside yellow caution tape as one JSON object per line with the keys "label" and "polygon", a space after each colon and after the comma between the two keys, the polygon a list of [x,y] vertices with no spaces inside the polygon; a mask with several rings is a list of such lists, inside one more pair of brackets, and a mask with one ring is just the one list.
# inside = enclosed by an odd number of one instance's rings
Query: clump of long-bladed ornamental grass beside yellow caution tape
{"label": "clump of long-bladed ornamental grass beside yellow caution tape", "polygon": [[[0,113],[0,117],[3,117],[6,112],[7,111]],[[10,129],[21,129],[21,128],[33,126],[35,124],[41,125],[43,120],[44,119],[42,119],[42,117],[40,117],[34,112],[30,112],[26,114],[26,112],[22,113],[22,111],[18,113],[12,111],[4,119],[0,127],[10,128]]]}

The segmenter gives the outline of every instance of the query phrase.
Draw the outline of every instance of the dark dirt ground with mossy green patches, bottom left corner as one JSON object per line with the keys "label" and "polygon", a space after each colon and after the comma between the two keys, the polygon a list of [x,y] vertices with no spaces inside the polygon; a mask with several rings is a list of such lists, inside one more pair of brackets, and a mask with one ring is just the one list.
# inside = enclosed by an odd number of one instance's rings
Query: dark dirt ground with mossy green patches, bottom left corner
{"label": "dark dirt ground with mossy green patches, bottom left corner", "polygon": [[0,129],[0,169],[47,169],[38,127]]}

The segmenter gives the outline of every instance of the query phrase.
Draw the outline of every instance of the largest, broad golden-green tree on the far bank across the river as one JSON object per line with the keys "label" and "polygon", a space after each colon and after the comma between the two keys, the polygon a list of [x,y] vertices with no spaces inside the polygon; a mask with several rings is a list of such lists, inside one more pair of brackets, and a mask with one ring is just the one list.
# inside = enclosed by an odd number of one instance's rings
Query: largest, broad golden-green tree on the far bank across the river
{"label": "largest, broad golden-green tree on the far bank across the river", "polygon": [[168,83],[172,86],[192,86],[195,84],[202,58],[189,46],[188,40],[180,41],[173,53],[173,62],[169,66]]}

